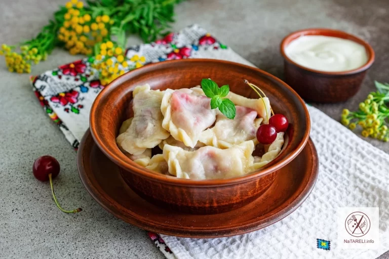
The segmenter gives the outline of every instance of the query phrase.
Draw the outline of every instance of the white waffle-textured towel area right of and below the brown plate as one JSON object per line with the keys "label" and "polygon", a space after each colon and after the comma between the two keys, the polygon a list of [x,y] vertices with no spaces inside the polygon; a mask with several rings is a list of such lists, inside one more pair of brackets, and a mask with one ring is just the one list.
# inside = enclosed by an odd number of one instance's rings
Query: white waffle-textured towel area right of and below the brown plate
{"label": "white waffle-textured towel area right of and below the brown plate", "polygon": [[[178,259],[376,258],[389,250],[389,155],[320,110],[308,107],[319,177],[305,202],[262,230],[215,239],[161,235]],[[338,207],[379,207],[379,249],[340,249]],[[329,240],[330,250],[317,248]]]}

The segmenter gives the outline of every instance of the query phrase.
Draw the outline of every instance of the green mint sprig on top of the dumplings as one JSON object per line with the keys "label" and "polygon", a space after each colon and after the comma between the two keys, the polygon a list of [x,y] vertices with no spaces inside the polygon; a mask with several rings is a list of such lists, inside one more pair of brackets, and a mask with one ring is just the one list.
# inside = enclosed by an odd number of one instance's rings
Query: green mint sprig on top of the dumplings
{"label": "green mint sprig on top of the dumplings", "polygon": [[219,111],[229,119],[234,119],[236,115],[235,104],[226,97],[229,93],[228,84],[219,88],[217,83],[211,79],[201,80],[201,88],[206,97],[211,98],[211,109],[219,108]]}

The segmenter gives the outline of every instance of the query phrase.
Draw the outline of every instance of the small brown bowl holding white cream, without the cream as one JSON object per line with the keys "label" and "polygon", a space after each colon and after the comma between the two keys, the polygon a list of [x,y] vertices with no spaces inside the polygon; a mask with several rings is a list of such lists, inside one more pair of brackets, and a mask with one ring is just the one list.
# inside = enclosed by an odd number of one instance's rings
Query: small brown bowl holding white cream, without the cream
{"label": "small brown bowl holding white cream, without the cream", "polygon": [[[353,40],[365,47],[369,56],[368,61],[362,67],[341,72],[319,71],[301,66],[285,54],[285,48],[291,41],[304,35],[323,35]],[[344,31],[332,29],[295,31],[282,40],[281,54],[284,57],[285,81],[304,100],[320,103],[343,102],[357,94],[367,70],[374,62],[374,51],[366,41]]]}

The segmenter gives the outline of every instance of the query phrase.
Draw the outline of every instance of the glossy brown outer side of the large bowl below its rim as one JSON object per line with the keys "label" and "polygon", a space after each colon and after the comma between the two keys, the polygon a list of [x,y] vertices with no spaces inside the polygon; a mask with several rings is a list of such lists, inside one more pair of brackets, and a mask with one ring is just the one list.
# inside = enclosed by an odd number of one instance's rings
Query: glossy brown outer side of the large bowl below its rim
{"label": "glossy brown outer side of the large bowl below its rim", "polygon": [[[137,194],[154,204],[186,213],[215,214],[239,208],[258,198],[274,182],[279,171],[273,171],[259,181],[189,188],[149,181],[136,174],[128,174],[124,169],[120,172]],[[239,193],[237,190],[240,190]]]}

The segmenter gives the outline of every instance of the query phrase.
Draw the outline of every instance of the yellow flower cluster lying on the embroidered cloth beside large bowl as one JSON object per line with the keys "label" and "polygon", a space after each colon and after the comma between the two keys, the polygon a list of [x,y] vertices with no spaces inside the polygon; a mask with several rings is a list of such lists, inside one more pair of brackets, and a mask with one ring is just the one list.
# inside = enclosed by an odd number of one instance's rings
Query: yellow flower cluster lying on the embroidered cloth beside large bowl
{"label": "yellow flower cluster lying on the embroidered cloth beside large bowl", "polygon": [[93,67],[99,71],[101,84],[106,85],[125,72],[143,66],[145,61],[144,57],[138,55],[126,60],[123,49],[107,41],[100,45],[100,53],[96,55]]}

